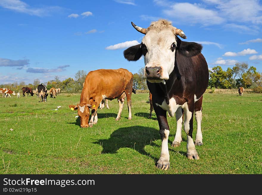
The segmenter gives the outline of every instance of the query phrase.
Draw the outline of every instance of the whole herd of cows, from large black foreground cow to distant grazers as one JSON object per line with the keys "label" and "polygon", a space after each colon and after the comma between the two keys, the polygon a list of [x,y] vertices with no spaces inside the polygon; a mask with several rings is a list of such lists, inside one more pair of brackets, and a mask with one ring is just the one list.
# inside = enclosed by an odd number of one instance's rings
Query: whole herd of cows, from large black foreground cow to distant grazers
{"label": "whole herd of cows, from large black foreground cow to distant grazers", "polygon": [[[124,58],[128,61],[137,61],[144,57],[144,78],[149,88],[150,114],[155,111],[162,140],[160,158],[156,167],[167,170],[169,162],[169,116],[176,118],[177,130],[172,147],[180,146],[182,141],[182,126],[187,135],[188,159],[199,159],[195,146],[202,142],[202,100],[208,87],[209,72],[205,57],[202,55],[202,45],[195,42],[185,42],[178,36],[186,39],[185,33],[167,20],[152,22],[149,27],[142,28],[131,22],[132,26],[144,34],[140,44],[124,50]],[[25,93],[33,96],[31,88],[24,87]],[[242,96],[244,88],[239,88]],[[0,88],[0,93],[15,95],[14,91]],[[48,96],[46,85],[40,84],[36,89],[39,102],[46,102]],[[55,98],[60,88],[51,88],[50,97]],[[98,108],[108,107],[107,101],[117,99],[119,110],[116,120],[121,118],[124,99],[127,99],[128,120],[132,119],[131,95],[136,93],[133,88],[133,74],[124,68],[99,69],[90,71],[83,83],[80,102],[77,105],[68,105],[71,110],[77,110],[80,126],[93,127],[97,124]],[[91,116],[91,118],[90,118]],[[193,141],[193,116],[197,121],[197,133]],[[90,118],[90,120],[89,120]],[[183,125],[182,125],[183,124]]]}

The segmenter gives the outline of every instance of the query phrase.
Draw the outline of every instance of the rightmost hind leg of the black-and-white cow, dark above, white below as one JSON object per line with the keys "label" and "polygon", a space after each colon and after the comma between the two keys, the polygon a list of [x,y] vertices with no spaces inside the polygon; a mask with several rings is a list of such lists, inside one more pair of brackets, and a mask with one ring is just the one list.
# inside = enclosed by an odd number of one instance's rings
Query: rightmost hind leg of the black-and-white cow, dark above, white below
{"label": "rightmost hind leg of the black-and-white cow, dark above, white below", "polygon": [[195,139],[195,146],[201,146],[203,145],[202,142],[202,131],[201,131],[201,122],[202,122],[202,99],[203,96],[197,102],[195,102],[195,118],[197,121],[197,134]]}

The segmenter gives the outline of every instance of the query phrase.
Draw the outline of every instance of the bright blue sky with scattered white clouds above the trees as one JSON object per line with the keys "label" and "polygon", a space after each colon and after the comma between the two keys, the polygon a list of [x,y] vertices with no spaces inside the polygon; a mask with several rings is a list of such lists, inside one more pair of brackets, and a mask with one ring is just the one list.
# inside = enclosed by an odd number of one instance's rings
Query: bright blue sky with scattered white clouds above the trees
{"label": "bright blue sky with scattered white clouds above the trees", "polygon": [[0,84],[47,82],[86,72],[126,68],[123,51],[141,42],[131,21],[148,27],[172,21],[186,41],[203,45],[208,67],[237,62],[262,72],[262,2],[258,0],[0,0]]}

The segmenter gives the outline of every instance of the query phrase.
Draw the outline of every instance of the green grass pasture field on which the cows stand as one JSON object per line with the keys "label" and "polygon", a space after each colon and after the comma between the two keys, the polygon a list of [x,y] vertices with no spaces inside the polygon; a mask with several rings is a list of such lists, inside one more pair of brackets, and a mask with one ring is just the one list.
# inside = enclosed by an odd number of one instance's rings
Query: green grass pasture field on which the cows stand
{"label": "green grass pasture field on which the cows stand", "polygon": [[[98,110],[98,123],[80,128],[80,94],[48,102],[34,96],[0,97],[1,174],[262,174],[262,95],[205,93],[200,160],[188,160],[186,135],[172,148],[175,117],[168,117],[170,169],[155,167],[161,139],[155,112],[149,116],[148,93],[132,94],[132,120],[125,101],[120,121],[117,100]],[[61,106],[58,110],[54,110]],[[194,119],[193,139],[196,134]]]}

